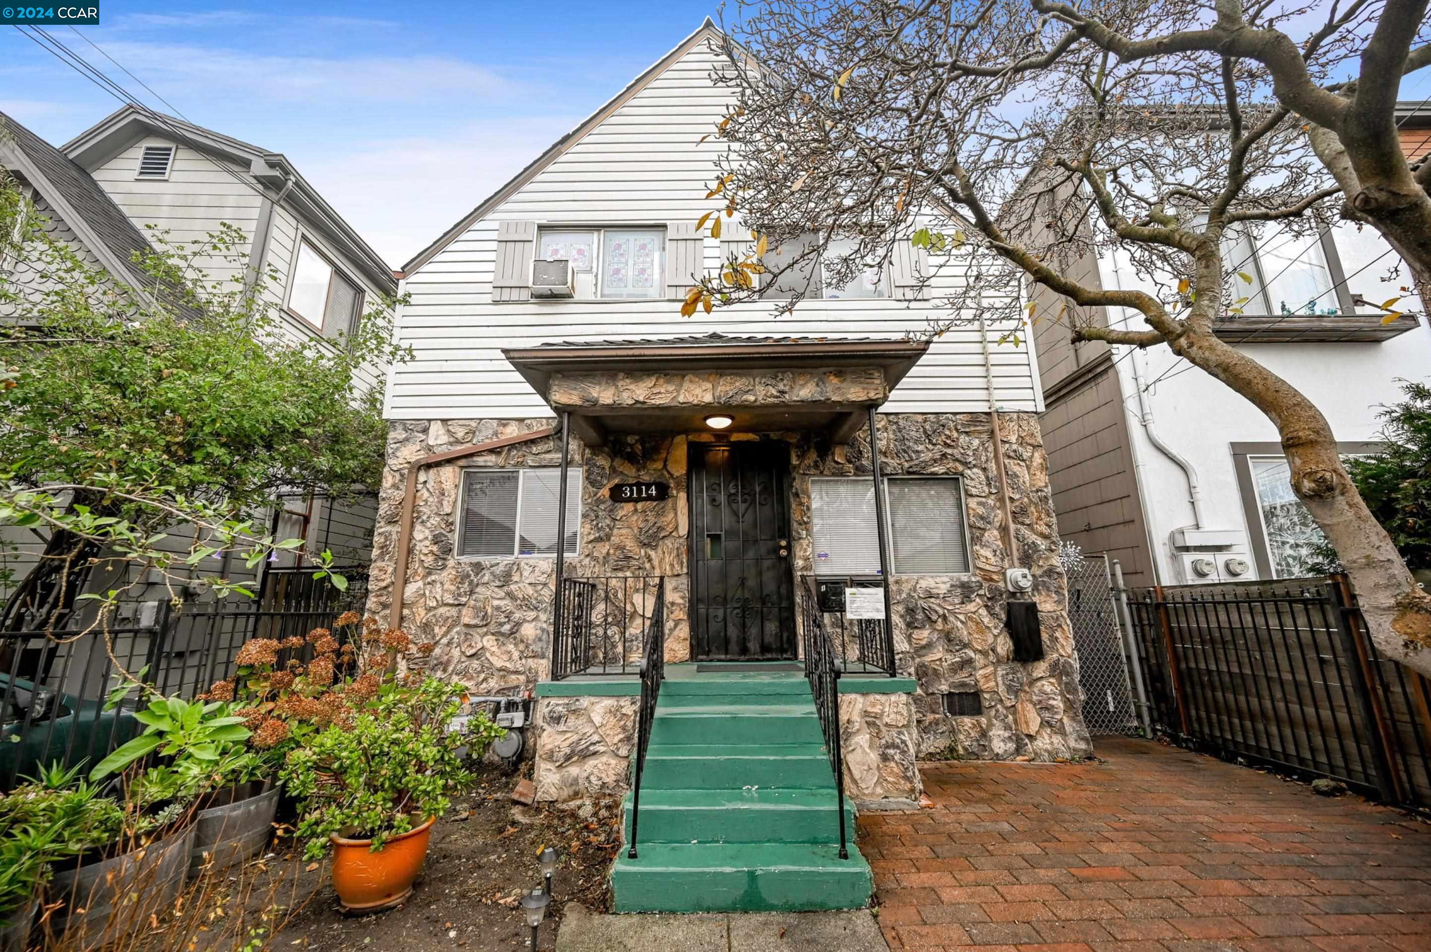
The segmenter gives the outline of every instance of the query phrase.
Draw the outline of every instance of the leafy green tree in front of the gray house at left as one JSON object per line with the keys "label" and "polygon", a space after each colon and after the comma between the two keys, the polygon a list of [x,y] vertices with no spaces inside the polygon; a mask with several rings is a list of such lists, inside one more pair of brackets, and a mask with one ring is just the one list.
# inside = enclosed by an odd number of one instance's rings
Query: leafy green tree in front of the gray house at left
{"label": "leafy green tree in front of the gray house at left", "polygon": [[[352,333],[326,339],[280,313],[276,272],[246,277],[235,226],[187,243],[155,232],[135,282],[46,224],[0,173],[0,257],[13,260],[0,270],[0,525],[73,530],[136,567],[177,573],[230,550],[252,566],[301,543],[243,513],[379,483],[373,369],[408,356],[392,344],[395,300],[369,300]],[[235,277],[199,266],[212,260]],[[186,559],[157,545],[176,526],[195,529]]]}

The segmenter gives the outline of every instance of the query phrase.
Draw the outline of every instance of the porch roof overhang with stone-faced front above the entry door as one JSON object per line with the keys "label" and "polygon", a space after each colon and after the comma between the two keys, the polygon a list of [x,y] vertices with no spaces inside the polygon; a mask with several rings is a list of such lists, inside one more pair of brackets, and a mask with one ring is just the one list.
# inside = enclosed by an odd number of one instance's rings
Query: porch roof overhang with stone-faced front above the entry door
{"label": "porch roof overhang with stone-faced front above the entry door", "polygon": [[588,446],[612,433],[816,430],[849,442],[924,340],[730,337],[555,343],[502,353]]}

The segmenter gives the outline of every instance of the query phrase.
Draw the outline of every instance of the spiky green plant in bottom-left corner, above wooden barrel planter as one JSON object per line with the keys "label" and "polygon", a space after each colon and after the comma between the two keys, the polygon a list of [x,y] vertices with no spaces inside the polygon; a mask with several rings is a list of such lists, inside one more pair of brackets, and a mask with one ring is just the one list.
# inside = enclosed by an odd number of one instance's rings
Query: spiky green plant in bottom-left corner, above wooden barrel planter
{"label": "spiky green plant in bottom-left corner, above wooden barrel planter", "polygon": [[49,881],[50,863],[107,846],[123,832],[123,809],[99,785],[59,765],[0,798],[0,923]]}

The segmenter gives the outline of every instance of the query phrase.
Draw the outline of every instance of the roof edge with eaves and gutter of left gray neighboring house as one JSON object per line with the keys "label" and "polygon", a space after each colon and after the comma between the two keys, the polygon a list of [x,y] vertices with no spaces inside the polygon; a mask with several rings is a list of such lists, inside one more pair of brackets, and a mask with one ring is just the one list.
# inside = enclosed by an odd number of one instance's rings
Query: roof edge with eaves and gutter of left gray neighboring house
{"label": "roof edge with eaves and gutter of left gray neighboring house", "polygon": [[272,152],[133,103],[122,106],[99,120],[60,146],[60,150],[80,166],[96,169],[146,136],[160,136],[206,156],[240,167],[246,166],[248,174],[253,179],[253,189],[266,197],[272,196],[263,190],[263,186],[276,192],[292,182],[292,189],[285,197],[290,210],[299,212],[333,242],[363,272],[368,280],[388,293],[396,293],[398,282],[388,263],[363,242],[362,236],[328,204],[323,196],[299,174],[288,156],[280,152]]}

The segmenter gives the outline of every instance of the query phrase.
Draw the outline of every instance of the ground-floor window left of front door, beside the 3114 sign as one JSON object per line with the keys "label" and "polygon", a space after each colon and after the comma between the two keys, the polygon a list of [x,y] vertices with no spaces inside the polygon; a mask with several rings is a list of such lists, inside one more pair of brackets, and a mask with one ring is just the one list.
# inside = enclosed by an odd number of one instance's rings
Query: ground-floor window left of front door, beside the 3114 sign
{"label": "ground-floor window left of front door, beside the 3114 sign", "polygon": [[[469,469],[462,473],[456,553],[474,559],[557,555],[561,470]],[[581,535],[581,469],[567,470],[565,555]]]}

